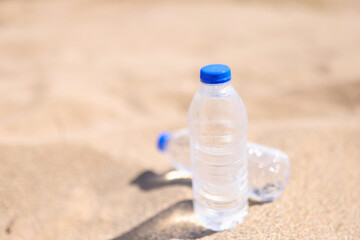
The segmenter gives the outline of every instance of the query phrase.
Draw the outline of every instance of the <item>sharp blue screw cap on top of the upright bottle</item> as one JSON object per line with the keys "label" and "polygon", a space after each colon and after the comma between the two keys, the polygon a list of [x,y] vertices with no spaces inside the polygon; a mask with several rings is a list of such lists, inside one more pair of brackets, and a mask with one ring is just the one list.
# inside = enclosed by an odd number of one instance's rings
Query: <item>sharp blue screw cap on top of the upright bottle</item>
{"label": "sharp blue screw cap on top of the upright bottle", "polygon": [[211,64],[200,70],[201,82],[207,84],[225,83],[231,80],[231,70],[223,64]]}

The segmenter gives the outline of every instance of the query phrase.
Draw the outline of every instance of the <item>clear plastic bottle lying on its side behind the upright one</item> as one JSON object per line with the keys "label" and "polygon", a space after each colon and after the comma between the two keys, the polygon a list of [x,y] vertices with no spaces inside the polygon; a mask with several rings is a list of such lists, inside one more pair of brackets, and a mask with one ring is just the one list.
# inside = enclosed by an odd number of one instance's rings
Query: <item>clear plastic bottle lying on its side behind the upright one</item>
{"label": "clear plastic bottle lying on its side behind the upright one", "polygon": [[[162,132],[158,149],[169,156],[179,171],[192,174],[189,131]],[[247,142],[249,198],[257,202],[273,201],[281,196],[290,175],[290,159],[282,151]]]}

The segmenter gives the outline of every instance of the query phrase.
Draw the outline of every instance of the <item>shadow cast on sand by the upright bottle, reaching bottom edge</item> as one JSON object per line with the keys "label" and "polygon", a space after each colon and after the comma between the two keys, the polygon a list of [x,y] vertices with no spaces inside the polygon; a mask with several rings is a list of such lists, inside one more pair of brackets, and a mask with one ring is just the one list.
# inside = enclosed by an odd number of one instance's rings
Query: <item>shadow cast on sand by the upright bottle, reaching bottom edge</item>
{"label": "shadow cast on sand by the upright bottle, reaching bottom edge", "polygon": [[184,200],[112,240],[197,239],[213,233],[196,221],[192,200]]}

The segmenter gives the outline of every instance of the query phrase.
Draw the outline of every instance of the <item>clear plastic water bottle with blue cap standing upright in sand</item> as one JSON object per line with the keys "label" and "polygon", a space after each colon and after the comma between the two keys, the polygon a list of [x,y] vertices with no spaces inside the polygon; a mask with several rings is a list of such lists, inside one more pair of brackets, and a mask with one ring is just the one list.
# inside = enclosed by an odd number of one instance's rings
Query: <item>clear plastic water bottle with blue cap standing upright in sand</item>
{"label": "clear plastic water bottle with blue cap standing upright in sand", "polygon": [[228,66],[207,65],[200,79],[188,115],[194,210],[205,227],[222,231],[248,210],[247,113]]}

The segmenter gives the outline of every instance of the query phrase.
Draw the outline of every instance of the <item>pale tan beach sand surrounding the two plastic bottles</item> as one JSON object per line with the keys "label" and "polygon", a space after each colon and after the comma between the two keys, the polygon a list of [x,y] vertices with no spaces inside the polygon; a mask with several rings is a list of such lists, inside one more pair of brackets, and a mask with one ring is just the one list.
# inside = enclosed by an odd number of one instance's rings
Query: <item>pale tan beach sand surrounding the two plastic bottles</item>
{"label": "pale tan beach sand surrounding the two plastic bottles", "polygon": [[[231,66],[249,140],[292,160],[281,199],[221,233],[194,221],[187,183],[131,184],[167,176],[156,136],[186,126],[210,63]],[[358,1],[0,1],[0,239],[360,239],[359,224]]]}

